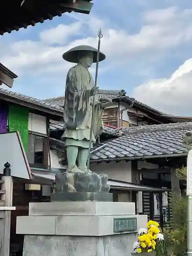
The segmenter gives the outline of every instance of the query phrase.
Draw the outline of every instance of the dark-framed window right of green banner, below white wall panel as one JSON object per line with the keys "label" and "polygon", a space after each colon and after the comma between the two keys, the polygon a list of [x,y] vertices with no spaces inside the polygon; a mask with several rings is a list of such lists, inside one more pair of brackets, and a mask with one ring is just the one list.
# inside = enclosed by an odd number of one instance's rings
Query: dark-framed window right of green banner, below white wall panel
{"label": "dark-framed window right of green banner, below white wall panel", "polygon": [[48,167],[48,138],[29,134],[27,158],[30,166]]}

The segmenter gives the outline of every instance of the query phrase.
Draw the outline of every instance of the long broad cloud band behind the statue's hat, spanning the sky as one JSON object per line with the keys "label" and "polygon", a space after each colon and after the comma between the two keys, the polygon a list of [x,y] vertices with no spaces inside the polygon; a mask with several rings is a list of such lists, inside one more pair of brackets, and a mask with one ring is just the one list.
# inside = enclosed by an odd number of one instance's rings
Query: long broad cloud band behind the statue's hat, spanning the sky
{"label": "long broad cloud band behind the statue's hat, spanning the sky", "polygon": [[[60,24],[42,31],[38,41],[13,42],[1,56],[1,61],[19,75],[24,74],[26,70],[44,72],[49,69],[60,72],[61,67],[67,65],[62,61],[63,52],[77,45],[97,47],[96,31],[93,36],[93,27],[97,27],[97,21],[98,25],[103,26],[101,51],[106,54],[106,61],[117,62],[118,66],[119,63],[125,65],[133,58],[140,58],[142,53],[147,52],[149,56],[155,56],[169,47],[178,46],[192,39],[192,30],[188,24],[188,18],[192,18],[192,10],[179,11],[176,8],[168,8],[146,12],[145,24],[134,34],[122,29],[113,29],[107,20],[101,20],[94,15],[75,14],[74,17],[78,22]],[[68,42],[71,36],[79,33],[81,27],[83,30],[80,39]],[[54,43],[59,46],[53,46]]]}

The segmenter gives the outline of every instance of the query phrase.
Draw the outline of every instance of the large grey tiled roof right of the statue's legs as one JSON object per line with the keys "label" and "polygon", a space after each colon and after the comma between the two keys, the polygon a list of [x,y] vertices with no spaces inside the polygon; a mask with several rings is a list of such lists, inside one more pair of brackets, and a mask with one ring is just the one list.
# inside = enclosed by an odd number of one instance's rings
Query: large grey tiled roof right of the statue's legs
{"label": "large grey tiled roof right of the statue's legs", "polygon": [[136,126],[122,131],[121,137],[92,153],[91,160],[186,155],[183,136],[187,131],[192,131],[192,122]]}

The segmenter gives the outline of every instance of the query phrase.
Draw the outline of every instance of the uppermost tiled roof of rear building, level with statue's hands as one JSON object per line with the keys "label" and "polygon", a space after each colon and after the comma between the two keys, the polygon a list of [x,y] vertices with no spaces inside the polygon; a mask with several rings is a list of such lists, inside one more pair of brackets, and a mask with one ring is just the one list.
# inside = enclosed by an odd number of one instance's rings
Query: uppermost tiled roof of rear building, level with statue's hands
{"label": "uppermost tiled roof of rear building, level with statue's hands", "polygon": [[[124,90],[100,90],[99,91],[99,98],[112,98],[113,100],[122,100],[122,101],[131,101],[133,98],[130,98],[129,96],[126,96],[126,92]],[[62,107],[64,105],[64,97],[55,97],[55,98],[49,98],[45,99],[45,102],[52,103],[54,105],[58,105]],[[159,110],[156,110],[152,108],[151,106],[148,106],[146,104],[143,104],[142,102],[139,102],[137,100],[134,101],[134,104],[137,104],[141,108],[148,109],[152,112],[155,112],[159,115],[165,115],[165,113],[160,112]]]}

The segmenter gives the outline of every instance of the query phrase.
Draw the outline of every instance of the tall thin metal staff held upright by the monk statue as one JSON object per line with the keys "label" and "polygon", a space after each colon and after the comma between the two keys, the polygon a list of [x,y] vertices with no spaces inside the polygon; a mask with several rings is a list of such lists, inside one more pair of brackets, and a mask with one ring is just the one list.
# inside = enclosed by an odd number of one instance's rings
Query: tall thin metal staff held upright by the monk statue
{"label": "tall thin metal staff held upright by the monk statue", "polygon": [[[99,67],[99,53],[100,53],[100,44],[101,44],[101,38],[103,37],[101,28],[98,32],[98,48],[97,48],[97,63],[96,63],[96,71],[95,71],[95,84],[94,87],[97,87],[97,76],[98,76],[98,67]],[[87,164],[87,171],[89,170],[90,165],[90,157],[91,157],[91,144],[92,144],[92,133],[93,133],[93,125],[94,125],[94,108],[95,108],[95,95],[93,96],[93,105],[92,105],[92,118],[91,118],[91,129],[90,129],[90,139],[89,139],[89,154],[88,154],[88,164]]]}

